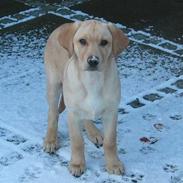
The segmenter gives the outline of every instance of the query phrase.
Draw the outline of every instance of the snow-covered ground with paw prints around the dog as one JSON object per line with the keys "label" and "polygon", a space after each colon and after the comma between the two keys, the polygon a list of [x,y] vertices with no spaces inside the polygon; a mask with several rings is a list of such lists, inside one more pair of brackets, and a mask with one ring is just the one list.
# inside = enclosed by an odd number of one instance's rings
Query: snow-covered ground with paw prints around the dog
{"label": "snow-covered ground with paw prints around the dog", "polygon": [[[0,182],[182,183],[182,59],[134,42],[118,58],[118,150],[126,174],[109,175],[103,149],[85,137],[87,171],[70,175],[66,113],[59,123],[61,148],[55,155],[42,151],[48,109],[42,55],[51,21],[0,35]],[[171,92],[159,91],[167,87]],[[154,92],[160,96],[154,102],[143,98]],[[136,98],[144,106],[128,105]]]}

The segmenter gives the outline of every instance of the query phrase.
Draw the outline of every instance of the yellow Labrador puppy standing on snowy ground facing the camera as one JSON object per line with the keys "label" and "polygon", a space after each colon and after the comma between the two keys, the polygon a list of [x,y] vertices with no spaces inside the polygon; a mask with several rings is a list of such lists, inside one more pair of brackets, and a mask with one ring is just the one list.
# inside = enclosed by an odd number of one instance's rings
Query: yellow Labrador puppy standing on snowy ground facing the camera
{"label": "yellow Labrador puppy standing on snowy ground facing the camera", "polygon": [[[115,25],[95,20],[64,24],[48,39],[49,112],[44,150],[53,153],[58,148],[58,117],[66,106],[72,150],[69,170],[74,176],[85,170],[82,127],[96,146],[104,146],[107,171],[124,173],[116,147],[121,87],[115,57],[127,45],[128,38]],[[98,118],[103,121],[103,136],[92,122]]]}

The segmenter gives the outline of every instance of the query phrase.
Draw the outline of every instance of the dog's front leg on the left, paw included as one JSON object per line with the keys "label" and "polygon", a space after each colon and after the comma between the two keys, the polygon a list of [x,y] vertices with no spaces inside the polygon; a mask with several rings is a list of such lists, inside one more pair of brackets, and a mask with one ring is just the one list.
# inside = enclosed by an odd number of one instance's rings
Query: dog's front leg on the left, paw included
{"label": "dog's front leg on the left, paw included", "polygon": [[79,177],[85,170],[84,142],[82,137],[82,121],[72,112],[68,114],[69,136],[71,140],[71,161],[69,170]]}

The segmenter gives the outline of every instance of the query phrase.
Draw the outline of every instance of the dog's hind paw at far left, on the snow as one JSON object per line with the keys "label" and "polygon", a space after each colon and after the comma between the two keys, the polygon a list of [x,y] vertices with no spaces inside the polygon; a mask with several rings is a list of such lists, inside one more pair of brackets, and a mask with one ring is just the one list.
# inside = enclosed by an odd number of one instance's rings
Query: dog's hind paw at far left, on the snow
{"label": "dog's hind paw at far left, on the snow", "polygon": [[58,149],[58,142],[57,139],[49,140],[45,139],[43,144],[43,150],[47,153],[55,153]]}

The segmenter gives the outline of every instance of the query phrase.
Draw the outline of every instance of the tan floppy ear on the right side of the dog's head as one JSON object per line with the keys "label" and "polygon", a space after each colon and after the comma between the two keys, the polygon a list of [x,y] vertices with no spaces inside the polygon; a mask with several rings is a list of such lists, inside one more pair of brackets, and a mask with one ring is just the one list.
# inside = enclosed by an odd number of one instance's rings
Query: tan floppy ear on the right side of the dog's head
{"label": "tan floppy ear on the right side of the dog's head", "polygon": [[112,34],[112,51],[113,55],[116,57],[120,54],[129,43],[128,38],[125,36],[122,30],[118,29],[114,24],[108,24],[109,31]]}

